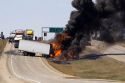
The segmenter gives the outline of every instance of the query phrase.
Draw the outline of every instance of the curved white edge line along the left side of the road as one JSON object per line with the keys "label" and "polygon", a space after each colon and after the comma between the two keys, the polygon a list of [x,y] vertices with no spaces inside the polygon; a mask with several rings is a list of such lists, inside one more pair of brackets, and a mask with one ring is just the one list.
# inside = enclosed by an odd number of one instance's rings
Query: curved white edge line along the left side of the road
{"label": "curved white edge line along the left side of the road", "polygon": [[14,75],[15,75],[16,77],[18,77],[19,79],[23,79],[23,80],[27,80],[27,81],[31,81],[31,82],[35,82],[35,83],[41,83],[41,82],[39,82],[39,81],[32,80],[32,79],[29,79],[29,78],[24,78],[24,77],[18,75],[18,74],[15,72],[14,67],[13,67],[12,56],[13,56],[13,55],[11,55],[11,68],[12,68],[12,72],[14,73]]}

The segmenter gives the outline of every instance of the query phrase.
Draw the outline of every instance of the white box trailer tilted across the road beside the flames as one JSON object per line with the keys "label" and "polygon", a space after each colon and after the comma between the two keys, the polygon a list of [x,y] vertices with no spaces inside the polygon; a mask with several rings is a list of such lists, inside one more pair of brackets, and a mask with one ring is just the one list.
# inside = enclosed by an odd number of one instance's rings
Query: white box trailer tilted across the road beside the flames
{"label": "white box trailer tilted across the road beside the flames", "polygon": [[18,49],[25,52],[38,53],[40,55],[49,55],[50,44],[29,40],[20,40]]}

